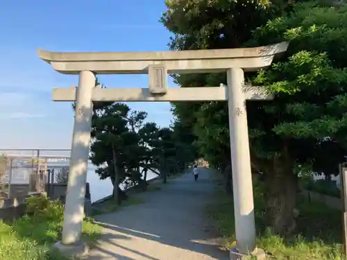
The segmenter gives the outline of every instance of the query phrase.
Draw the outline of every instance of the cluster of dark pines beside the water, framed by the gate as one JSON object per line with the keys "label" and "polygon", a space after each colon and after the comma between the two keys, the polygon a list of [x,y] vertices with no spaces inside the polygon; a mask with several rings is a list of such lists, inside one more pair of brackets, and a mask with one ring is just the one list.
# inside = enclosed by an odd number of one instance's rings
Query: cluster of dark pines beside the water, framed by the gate
{"label": "cluster of dark pines beside the water, framed by the gate", "polygon": [[182,135],[179,123],[160,128],[146,122],[146,116],[124,103],[94,103],[90,159],[101,179],[110,177],[118,203],[126,198],[119,184],[146,189],[148,171],[167,182],[167,175],[183,171],[195,159],[192,141]]}

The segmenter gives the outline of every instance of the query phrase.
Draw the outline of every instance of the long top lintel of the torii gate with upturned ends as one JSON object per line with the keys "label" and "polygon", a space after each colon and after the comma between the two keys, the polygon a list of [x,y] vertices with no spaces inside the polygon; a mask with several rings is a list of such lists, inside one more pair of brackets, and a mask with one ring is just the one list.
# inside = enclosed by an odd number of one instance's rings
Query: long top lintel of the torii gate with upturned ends
{"label": "long top lintel of the torii gate with upturned ends", "polygon": [[151,52],[51,52],[37,50],[39,57],[60,73],[148,73],[150,64],[164,66],[168,73],[206,73],[239,67],[255,71],[269,67],[273,58],[287,51],[288,43],[240,49]]}

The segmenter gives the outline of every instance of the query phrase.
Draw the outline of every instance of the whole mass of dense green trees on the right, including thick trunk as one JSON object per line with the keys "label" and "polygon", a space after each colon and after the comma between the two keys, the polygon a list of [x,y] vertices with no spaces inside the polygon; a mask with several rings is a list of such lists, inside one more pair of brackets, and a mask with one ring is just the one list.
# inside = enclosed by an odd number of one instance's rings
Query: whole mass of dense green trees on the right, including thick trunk
{"label": "whole mass of dense green trees on the right, including thick trunk", "polygon": [[[266,183],[267,223],[294,229],[298,173],[337,173],[346,155],[346,7],[282,1],[167,1],[162,22],[174,33],[171,49],[264,46],[289,41],[284,57],[246,75],[273,92],[273,101],[246,103],[251,165]],[[176,76],[182,87],[218,86],[226,75]],[[230,162],[225,103],[174,104],[214,166]],[[232,131],[232,129],[231,129]],[[229,167],[230,168],[230,167]]]}

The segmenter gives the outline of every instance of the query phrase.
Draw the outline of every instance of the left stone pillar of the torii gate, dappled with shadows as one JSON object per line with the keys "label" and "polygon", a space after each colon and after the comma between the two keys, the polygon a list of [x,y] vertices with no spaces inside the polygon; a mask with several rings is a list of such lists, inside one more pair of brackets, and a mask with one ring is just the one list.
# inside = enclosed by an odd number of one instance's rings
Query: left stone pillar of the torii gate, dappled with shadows
{"label": "left stone pillar of the torii gate, dappled with shadows", "polygon": [[62,227],[62,245],[75,245],[81,239],[94,86],[94,73],[92,71],[81,71],[77,88],[69,181],[67,183],[64,225]]}

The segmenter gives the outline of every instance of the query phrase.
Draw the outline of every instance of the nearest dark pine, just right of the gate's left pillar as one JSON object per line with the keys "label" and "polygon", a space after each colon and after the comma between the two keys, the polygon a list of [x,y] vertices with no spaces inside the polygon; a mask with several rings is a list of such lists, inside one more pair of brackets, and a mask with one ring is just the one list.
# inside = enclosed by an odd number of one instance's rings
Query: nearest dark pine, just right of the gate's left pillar
{"label": "nearest dark pine, just right of the gate's left pillar", "polygon": [[98,107],[92,121],[94,141],[90,159],[99,166],[96,170],[105,179],[110,177],[114,186],[115,201],[121,201],[124,193],[119,184],[130,180],[141,182],[139,172],[141,148],[139,128],[146,118],[145,112],[130,111],[128,105],[112,103]]}

